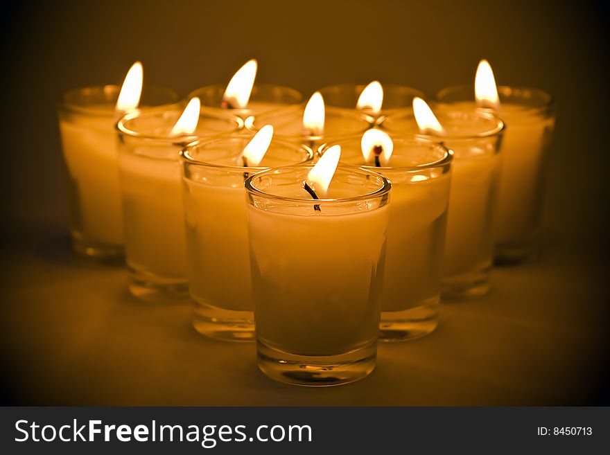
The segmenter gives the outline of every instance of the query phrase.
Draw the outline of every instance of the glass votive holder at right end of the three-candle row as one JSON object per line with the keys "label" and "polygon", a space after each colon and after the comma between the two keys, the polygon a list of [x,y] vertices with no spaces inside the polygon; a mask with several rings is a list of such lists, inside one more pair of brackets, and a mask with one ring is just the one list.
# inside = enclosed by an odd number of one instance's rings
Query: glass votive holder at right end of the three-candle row
{"label": "glass votive holder at right end of the three-candle row", "polygon": [[491,287],[500,146],[504,123],[489,112],[435,108],[439,134],[419,134],[411,114],[390,116],[387,132],[416,134],[453,151],[451,196],[443,256],[443,295],[481,296]]}

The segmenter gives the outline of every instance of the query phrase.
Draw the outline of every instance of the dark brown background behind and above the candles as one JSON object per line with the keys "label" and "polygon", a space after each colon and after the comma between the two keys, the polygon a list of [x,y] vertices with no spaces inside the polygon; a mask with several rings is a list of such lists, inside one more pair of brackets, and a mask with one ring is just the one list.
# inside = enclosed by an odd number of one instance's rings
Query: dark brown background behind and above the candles
{"label": "dark brown background behind and above the candles", "polygon": [[[595,318],[600,333],[605,332],[610,151],[602,6],[491,0],[108,0],[1,8],[4,251],[14,253],[15,243],[44,231],[44,220],[66,218],[56,124],[61,94],[79,85],[120,83],[135,60],[143,62],[146,82],[175,87],[183,95],[227,82],[245,60],[256,57],[259,81],[292,86],[305,96],[328,84],[378,79],[432,97],[450,84],[472,84],[478,60],[485,57],[498,84],[539,87],[557,98],[545,226],[552,242],[579,252],[573,267],[585,261],[592,270],[588,278],[599,303]],[[57,229],[62,232],[64,224]],[[13,265],[3,260],[2,267],[6,272]],[[12,289],[14,281],[12,276],[4,289]],[[10,295],[13,300],[6,305],[19,305],[18,294]],[[18,385],[25,374],[19,362],[28,360],[20,359],[19,346],[8,343],[7,338],[2,352],[10,396],[31,402]],[[575,391],[564,402],[607,401],[598,393],[607,350],[598,348],[585,382],[589,391]]]}

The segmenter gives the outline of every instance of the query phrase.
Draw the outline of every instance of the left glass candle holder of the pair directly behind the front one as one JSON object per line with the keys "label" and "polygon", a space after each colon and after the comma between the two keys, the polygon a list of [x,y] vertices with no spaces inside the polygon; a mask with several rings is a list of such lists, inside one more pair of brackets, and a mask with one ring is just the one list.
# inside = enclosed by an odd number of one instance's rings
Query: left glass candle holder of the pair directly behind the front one
{"label": "left glass candle holder of the pair directly behind the front one", "polygon": [[253,172],[311,160],[303,145],[273,139],[256,167],[243,167],[251,135],[195,141],[181,152],[193,327],[226,341],[254,340],[243,184]]}

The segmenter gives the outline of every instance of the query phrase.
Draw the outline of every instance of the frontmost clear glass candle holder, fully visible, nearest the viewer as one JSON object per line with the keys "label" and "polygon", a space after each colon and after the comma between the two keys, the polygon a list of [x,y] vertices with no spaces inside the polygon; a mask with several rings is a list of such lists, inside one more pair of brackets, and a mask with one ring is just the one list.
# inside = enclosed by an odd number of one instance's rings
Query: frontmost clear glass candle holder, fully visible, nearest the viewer
{"label": "frontmost clear glass candle holder, fully visible, nearest the viewer", "polygon": [[256,347],[271,379],[333,386],[375,367],[390,182],[340,166],[314,200],[311,168],[245,182]]}

